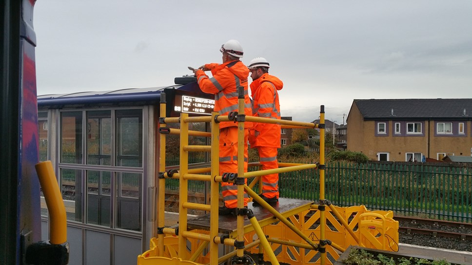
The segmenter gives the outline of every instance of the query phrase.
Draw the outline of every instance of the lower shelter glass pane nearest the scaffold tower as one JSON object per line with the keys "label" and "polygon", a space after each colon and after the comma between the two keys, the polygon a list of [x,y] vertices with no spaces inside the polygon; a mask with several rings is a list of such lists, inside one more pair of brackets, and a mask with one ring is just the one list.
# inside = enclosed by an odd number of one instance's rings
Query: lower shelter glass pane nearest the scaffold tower
{"label": "lower shelter glass pane nearest the scaffold tower", "polygon": [[139,173],[117,173],[117,228],[141,230],[141,178]]}

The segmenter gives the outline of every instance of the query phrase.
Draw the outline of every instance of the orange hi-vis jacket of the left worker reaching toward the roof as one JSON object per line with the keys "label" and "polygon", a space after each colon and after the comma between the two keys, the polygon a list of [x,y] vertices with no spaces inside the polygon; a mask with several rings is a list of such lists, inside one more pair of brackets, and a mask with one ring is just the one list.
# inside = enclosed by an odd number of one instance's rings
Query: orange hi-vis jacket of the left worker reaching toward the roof
{"label": "orange hi-vis jacket of the left worker reaching toward the roof", "polygon": [[[244,114],[251,116],[251,100],[248,93],[249,69],[241,61],[235,60],[223,64],[209,63],[205,67],[212,71],[213,77],[205,72],[196,72],[201,91],[215,94],[215,112],[228,115],[237,112],[237,87],[244,87]],[[219,128],[237,126],[237,122],[221,122]],[[252,122],[244,122],[244,128],[251,128]]]}

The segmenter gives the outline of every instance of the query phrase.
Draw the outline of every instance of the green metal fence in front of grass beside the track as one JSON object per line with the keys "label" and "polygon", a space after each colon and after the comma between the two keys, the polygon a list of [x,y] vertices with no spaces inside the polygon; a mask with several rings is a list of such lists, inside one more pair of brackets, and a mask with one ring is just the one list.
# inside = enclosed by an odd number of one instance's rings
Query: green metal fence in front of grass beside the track
{"label": "green metal fence in front of grass beside the track", "polygon": [[[472,222],[472,168],[334,162],[325,182],[326,198],[337,206]],[[318,171],[280,174],[279,189],[281,197],[317,201]]]}

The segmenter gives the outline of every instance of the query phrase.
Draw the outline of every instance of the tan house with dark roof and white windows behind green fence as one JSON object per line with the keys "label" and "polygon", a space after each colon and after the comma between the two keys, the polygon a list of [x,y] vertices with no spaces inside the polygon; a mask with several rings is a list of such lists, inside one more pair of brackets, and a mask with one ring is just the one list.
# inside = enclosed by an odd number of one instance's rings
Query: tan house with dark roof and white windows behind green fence
{"label": "tan house with dark roof and white windows behind green fence", "polygon": [[347,149],[371,160],[472,154],[472,99],[354,99]]}

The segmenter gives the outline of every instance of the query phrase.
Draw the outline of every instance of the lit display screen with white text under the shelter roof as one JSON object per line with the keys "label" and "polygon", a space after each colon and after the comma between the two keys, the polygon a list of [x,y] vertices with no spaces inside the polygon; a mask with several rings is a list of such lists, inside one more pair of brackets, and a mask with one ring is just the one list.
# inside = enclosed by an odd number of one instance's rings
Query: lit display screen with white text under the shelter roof
{"label": "lit display screen with white text under the shelter roof", "polygon": [[174,99],[174,111],[179,113],[211,115],[213,108],[215,99],[191,95],[176,95]]}

